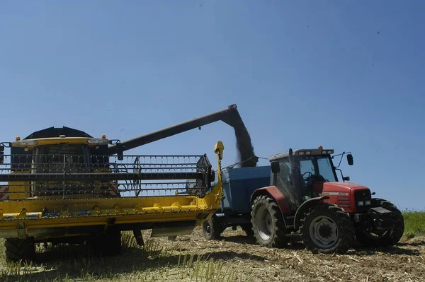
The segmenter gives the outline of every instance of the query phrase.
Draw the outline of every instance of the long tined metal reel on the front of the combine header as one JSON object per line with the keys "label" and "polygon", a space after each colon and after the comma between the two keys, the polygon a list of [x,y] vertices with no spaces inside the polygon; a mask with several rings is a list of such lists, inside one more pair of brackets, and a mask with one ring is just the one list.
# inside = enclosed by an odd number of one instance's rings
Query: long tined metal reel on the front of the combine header
{"label": "long tined metal reel on the front of the combine header", "polygon": [[206,155],[126,155],[121,158],[117,155],[4,155],[4,163],[0,164],[0,201],[203,197],[214,180]]}

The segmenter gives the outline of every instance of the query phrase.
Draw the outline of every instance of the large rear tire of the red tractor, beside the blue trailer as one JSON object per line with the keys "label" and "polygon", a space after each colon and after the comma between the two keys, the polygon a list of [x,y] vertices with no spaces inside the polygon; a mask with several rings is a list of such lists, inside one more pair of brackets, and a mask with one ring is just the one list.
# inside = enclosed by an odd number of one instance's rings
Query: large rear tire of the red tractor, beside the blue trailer
{"label": "large rear tire of the red tractor, beside the blue trailer", "polygon": [[251,223],[256,242],[263,247],[285,247],[285,223],[278,205],[271,197],[257,196],[252,204]]}

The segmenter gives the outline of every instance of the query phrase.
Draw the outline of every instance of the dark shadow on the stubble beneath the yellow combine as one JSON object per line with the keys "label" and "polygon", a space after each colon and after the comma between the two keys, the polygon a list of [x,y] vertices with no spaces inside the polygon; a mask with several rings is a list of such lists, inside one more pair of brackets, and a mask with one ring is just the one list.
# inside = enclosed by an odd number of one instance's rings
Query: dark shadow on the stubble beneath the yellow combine
{"label": "dark shadow on the stubble beneath the yellow combine", "polygon": [[[185,258],[186,254],[186,258]],[[183,262],[191,260],[191,252],[182,249],[169,251],[164,249],[145,250],[143,247],[123,247],[122,254],[115,257],[96,257],[89,253],[84,245],[60,245],[49,247],[37,254],[33,266],[37,272],[29,274],[0,274],[0,281],[51,281],[68,278],[74,279],[91,276],[91,278],[109,279],[115,274],[130,274],[134,271],[155,269],[161,271],[164,266],[172,268],[182,266]],[[263,262],[264,257],[247,252],[217,251],[199,255],[200,261],[208,259],[251,259]],[[196,262],[198,254],[193,254]],[[16,267],[16,264],[11,264]],[[22,264],[21,268],[25,268]],[[66,275],[66,277],[65,277]],[[7,280],[6,280],[7,279]]]}

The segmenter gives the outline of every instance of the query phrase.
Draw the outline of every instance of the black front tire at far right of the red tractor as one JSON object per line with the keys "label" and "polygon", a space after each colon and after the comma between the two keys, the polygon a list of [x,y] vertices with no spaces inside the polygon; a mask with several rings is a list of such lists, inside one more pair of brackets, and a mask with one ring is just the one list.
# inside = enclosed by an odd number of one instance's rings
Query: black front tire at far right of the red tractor
{"label": "black front tire at far right of the red tractor", "polygon": [[395,213],[395,228],[382,232],[358,228],[356,230],[356,240],[364,247],[389,247],[396,245],[403,236],[404,218],[402,212],[389,201],[383,199],[380,201],[380,206]]}

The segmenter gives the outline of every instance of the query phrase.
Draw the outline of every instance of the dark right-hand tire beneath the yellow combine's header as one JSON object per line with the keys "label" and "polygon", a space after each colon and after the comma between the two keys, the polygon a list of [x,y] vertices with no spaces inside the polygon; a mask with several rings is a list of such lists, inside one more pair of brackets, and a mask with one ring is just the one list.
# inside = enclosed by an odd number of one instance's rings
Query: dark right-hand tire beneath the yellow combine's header
{"label": "dark right-hand tire beneath the yellow combine's header", "polygon": [[91,247],[94,254],[101,257],[111,257],[121,254],[121,230],[110,227],[106,233],[91,237]]}

